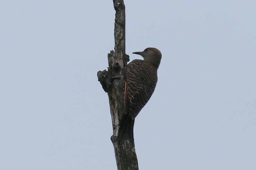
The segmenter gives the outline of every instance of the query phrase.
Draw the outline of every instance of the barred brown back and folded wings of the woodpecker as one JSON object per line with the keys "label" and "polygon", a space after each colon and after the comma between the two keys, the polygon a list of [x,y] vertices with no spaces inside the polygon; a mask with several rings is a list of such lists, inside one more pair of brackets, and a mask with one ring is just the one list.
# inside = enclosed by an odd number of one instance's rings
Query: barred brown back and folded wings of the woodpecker
{"label": "barred brown back and folded wings of the woodpecker", "polygon": [[130,113],[134,119],[150,99],[156,87],[156,82],[151,81],[154,73],[143,69],[142,60],[133,60],[123,70],[122,82],[124,87],[125,113]]}

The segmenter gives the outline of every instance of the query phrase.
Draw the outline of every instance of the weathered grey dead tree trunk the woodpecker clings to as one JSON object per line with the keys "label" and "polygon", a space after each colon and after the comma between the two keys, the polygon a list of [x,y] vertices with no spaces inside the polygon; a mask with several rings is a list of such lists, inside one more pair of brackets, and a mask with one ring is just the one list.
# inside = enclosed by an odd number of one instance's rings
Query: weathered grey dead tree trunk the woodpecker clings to
{"label": "weathered grey dead tree trunk the woodpecker clings to", "polygon": [[115,19],[115,51],[108,54],[108,71],[99,71],[98,80],[102,88],[108,93],[110,113],[113,125],[113,135],[111,141],[114,145],[116,164],[118,170],[136,170],[138,160],[135,152],[134,140],[131,138],[121,138],[116,141],[118,124],[123,108],[123,88],[120,87],[120,79],[112,77],[121,76],[121,71],[129,61],[129,56],[125,54],[125,6],[123,0],[113,0],[116,10]]}

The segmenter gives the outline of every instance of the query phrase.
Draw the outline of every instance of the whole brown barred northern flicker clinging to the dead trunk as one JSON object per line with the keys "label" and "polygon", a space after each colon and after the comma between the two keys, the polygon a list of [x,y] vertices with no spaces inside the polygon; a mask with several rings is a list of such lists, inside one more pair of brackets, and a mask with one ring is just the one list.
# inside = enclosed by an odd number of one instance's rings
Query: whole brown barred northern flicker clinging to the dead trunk
{"label": "whole brown barred northern flicker clinging to the dead trunk", "polygon": [[133,60],[122,71],[124,113],[119,122],[117,140],[123,135],[133,139],[134,119],[156,88],[157,69],[162,58],[161,52],[156,48],[146,48],[133,54],[141,55],[144,60]]}

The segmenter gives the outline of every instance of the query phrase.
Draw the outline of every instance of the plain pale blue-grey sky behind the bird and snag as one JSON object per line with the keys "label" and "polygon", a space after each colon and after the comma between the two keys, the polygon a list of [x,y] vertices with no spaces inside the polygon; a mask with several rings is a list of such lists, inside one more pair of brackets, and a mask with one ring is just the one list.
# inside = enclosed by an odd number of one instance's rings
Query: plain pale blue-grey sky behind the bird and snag
{"label": "plain pale blue-grey sky behind the bird and snag", "polygon": [[[162,52],[141,170],[256,169],[256,1],[125,1],[126,54]],[[0,3],[0,169],[113,170],[111,0]]]}

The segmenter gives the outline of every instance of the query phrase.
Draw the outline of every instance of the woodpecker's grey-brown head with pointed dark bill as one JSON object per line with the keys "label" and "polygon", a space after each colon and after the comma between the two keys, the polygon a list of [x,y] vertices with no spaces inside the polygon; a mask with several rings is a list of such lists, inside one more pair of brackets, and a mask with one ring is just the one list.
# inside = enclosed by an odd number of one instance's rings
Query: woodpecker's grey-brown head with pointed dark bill
{"label": "woodpecker's grey-brown head with pointed dark bill", "polygon": [[133,54],[139,54],[144,58],[145,62],[149,62],[157,68],[160,65],[160,61],[162,58],[161,52],[153,47],[148,47],[144,51],[141,52],[133,52]]}

